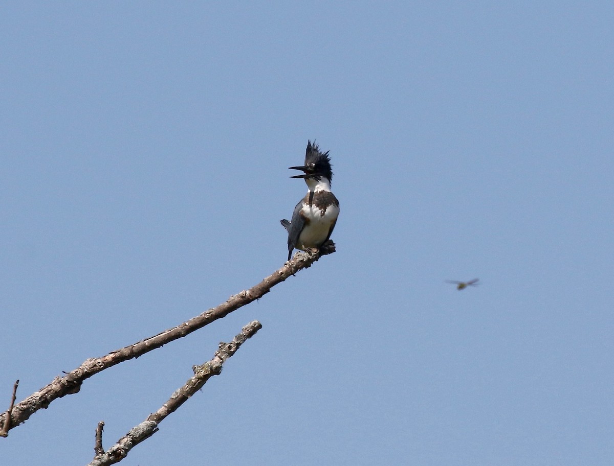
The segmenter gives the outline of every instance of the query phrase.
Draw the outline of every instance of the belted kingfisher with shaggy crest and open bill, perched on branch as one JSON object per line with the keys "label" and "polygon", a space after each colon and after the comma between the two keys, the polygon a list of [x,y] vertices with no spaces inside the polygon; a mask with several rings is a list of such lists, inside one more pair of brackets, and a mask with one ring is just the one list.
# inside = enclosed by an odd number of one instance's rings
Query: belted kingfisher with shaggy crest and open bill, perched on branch
{"label": "belted kingfisher with shaggy crest and open bill, perched on branch", "polygon": [[330,191],[333,172],[328,151],[322,153],[316,142],[307,142],[305,165],[290,167],[301,170],[303,175],[290,178],[303,178],[307,183],[307,194],[298,201],[292,213],[292,221],[280,220],[288,231],[288,260],[294,248],[305,251],[308,248],[320,248],[330,238],[339,216],[339,201]]}

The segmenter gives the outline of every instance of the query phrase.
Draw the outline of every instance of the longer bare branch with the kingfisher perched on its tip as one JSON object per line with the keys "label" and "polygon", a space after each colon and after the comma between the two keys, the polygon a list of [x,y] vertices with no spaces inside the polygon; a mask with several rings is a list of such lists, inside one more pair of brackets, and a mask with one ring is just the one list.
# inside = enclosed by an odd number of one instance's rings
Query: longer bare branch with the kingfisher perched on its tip
{"label": "longer bare branch with the kingfisher perched on its tip", "polygon": [[[196,316],[182,324],[179,324],[172,329],[165,330],[153,337],[145,338],[133,345],[125,346],[120,350],[111,351],[102,357],[94,357],[86,359],[77,369],[71,372],[64,372],[66,375],[57,376],[51,383],[44,386],[39,391],[29,395],[25,400],[17,403],[17,406],[12,410],[10,428],[14,428],[19,424],[27,421],[29,417],[36,413],[41,408],[46,409],[54,400],[66,395],[72,395],[81,389],[81,384],[87,378],[95,375],[98,372],[108,369],[109,367],[119,364],[128,359],[142,356],[149,351],[160,348],[166,343],[173,342],[177,338],[185,337],[195,330],[201,329],[207,324],[221,319],[232,311],[251,303],[256,299],[260,299],[268,293],[273,286],[281,283],[294,275],[299,270],[311,267],[311,264],[316,262],[321,256],[335,252],[335,243],[328,240],[328,243],[322,246],[320,251],[299,252],[295,254],[291,261],[286,262],[281,269],[276,270],[271,275],[266,277],[257,285],[252,286],[248,290],[244,290],[229,297],[226,302],[204,311],[201,315]],[[0,425],[4,421],[6,414],[0,414]]]}

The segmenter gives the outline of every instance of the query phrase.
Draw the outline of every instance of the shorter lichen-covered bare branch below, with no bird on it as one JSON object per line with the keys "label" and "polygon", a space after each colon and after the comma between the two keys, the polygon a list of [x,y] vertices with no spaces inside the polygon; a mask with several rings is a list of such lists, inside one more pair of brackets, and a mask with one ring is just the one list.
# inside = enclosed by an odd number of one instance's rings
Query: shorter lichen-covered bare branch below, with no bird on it
{"label": "shorter lichen-covered bare branch below, with no bird on it", "polygon": [[[219,375],[222,372],[224,362],[239,349],[247,338],[251,338],[255,333],[262,328],[258,321],[253,321],[243,327],[241,333],[233,338],[232,342],[220,342],[219,348],[214,354],[211,361],[205,362],[203,365],[195,365],[192,367],[194,376],[189,378],[181,388],[177,389],[166,403],[155,413],[130,429],[128,434],[120,438],[115,445],[111,446],[107,451],[98,453],[88,466],[106,466],[115,464],[124,459],[128,452],[135,446],[151,437],[158,432],[158,424],[163,421],[166,416],[177,410],[188,398],[203,388],[203,385],[214,375]],[[100,426],[100,424],[98,424]],[[102,430],[102,429],[101,429]],[[98,430],[96,430],[96,443],[98,443]],[[101,440],[102,445],[102,440]]]}

